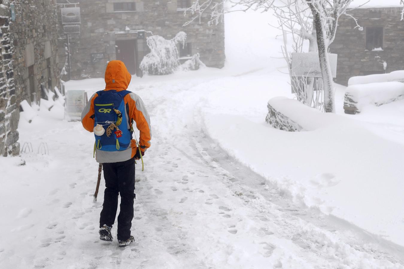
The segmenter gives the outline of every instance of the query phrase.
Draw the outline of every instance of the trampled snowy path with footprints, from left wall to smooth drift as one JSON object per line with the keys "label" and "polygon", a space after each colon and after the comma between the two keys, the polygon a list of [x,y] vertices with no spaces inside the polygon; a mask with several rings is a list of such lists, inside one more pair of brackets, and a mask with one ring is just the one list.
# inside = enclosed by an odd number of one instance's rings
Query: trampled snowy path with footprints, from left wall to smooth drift
{"label": "trampled snowy path with footprints, from left wall to smooth drift", "polygon": [[138,81],[153,144],[137,167],[134,244],[118,248],[115,227],[114,242],[98,239],[93,136],[55,107],[21,122],[26,165],[2,165],[0,268],[404,268],[402,247],[294,204],[206,136],[198,107],[226,78]]}

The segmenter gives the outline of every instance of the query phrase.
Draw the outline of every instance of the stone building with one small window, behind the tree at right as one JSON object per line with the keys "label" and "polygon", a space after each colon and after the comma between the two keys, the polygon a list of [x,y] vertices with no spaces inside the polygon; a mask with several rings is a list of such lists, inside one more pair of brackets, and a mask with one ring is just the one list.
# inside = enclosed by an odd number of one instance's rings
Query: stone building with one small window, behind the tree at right
{"label": "stone building with one small window, behind the tree at right", "polygon": [[[365,2],[365,1],[364,1]],[[368,4],[349,11],[363,27],[359,31],[355,21],[342,15],[337,35],[330,52],[338,54],[337,79],[347,85],[357,75],[389,73],[404,69],[404,21],[401,19],[400,1],[387,1],[378,6]]]}

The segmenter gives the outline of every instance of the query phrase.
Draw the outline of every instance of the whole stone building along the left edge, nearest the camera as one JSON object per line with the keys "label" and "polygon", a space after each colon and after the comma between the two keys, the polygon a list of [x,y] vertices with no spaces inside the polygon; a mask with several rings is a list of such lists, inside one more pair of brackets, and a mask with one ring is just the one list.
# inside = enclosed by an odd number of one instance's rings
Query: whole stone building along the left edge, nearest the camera
{"label": "whole stone building along the left edge, nearest the camera", "polygon": [[0,0],[0,155],[19,154],[19,103],[59,84],[55,0]]}

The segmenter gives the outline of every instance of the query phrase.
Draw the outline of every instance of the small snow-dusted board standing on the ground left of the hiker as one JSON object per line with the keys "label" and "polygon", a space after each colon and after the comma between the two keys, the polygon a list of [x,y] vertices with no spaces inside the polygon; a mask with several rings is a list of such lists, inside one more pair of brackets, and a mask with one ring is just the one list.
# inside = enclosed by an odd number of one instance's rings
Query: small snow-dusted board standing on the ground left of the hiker
{"label": "small snow-dusted board standing on the ground left of the hiker", "polygon": [[67,91],[65,95],[65,119],[80,121],[81,113],[87,102],[87,93],[84,90]]}

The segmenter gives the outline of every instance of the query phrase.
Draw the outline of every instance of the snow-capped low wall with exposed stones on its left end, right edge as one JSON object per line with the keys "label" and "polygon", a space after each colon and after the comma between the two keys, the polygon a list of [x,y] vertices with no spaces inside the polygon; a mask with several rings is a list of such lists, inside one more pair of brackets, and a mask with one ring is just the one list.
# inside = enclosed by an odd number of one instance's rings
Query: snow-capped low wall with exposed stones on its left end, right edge
{"label": "snow-capped low wall with exposed stones on its left end, right edge", "polygon": [[364,106],[380,106],[403,98],[404,83],[398,81],[350,85],[345,90],[344,111],[356,114]]}

